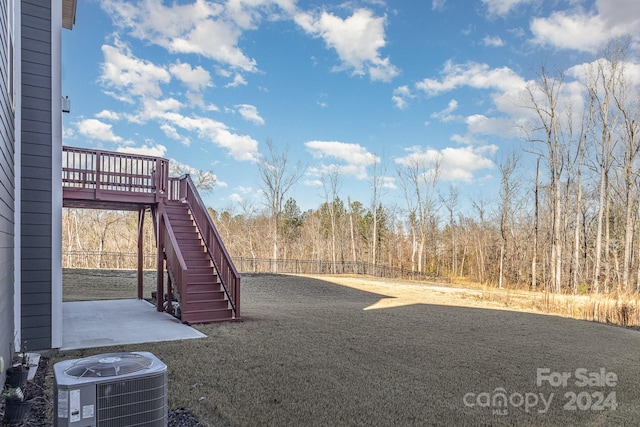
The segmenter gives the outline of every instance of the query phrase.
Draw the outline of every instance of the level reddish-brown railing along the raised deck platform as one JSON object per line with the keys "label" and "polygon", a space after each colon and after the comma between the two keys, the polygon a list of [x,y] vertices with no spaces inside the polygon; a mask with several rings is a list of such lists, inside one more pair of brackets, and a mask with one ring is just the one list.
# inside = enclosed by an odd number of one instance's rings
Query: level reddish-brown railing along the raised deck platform
{"label": "level reddish-brown railing along the raised deck platform", "polygon": [[169,161],[160,157],[77,147],[62,148],[62,186],[70,190],[166,197]]}

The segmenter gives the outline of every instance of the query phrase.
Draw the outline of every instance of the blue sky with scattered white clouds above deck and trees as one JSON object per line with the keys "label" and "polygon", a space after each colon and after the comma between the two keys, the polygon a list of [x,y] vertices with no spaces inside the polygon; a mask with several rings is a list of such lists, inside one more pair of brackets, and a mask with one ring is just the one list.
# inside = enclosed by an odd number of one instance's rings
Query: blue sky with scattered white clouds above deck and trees
{"label": "blue sky with scattered white clouds above deck and trees", "polygon": [[439,160],[443,193],[492,200],[540,66],[577,76],[625,35],[637,52],[637,0],[84,0],[63,31],[63,141],[211,171],[205,203],[236,212],[263,207],[267,139],[305,167],[303,210],[334,168],[368,205],[374,163],[402,207],[415,158]]}

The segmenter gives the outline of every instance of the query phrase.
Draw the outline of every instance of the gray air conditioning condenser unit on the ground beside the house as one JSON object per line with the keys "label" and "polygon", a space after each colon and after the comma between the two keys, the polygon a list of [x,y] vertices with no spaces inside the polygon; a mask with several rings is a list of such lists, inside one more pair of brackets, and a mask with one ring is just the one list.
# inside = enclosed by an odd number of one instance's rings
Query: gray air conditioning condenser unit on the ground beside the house
{"label": "gray air conditioning condenser unit on the ground beside the house", "polygon": [[53,366],[59,427],[166,427],[167,366],[148,352],[107,353]]}

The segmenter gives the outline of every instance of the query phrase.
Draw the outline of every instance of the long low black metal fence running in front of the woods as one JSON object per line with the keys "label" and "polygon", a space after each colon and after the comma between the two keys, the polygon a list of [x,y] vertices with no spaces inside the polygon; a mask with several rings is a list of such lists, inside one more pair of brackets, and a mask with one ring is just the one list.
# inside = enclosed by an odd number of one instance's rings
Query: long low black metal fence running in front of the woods
{"label": "long low black metal fence running in front of the woods", "polygon": [[[283,273],[283,274],[355,274],[389,279],[408,279],[450,283],[449,277],[442,277],[406,268],[376,265],[361,261],[326,261],[305,259],[269,259],[269,258],[232,258],[241,274]],[[133,252],[63,251],[64,268],[102,268],[135,270],[138,255]],[[156,255],[145,254],[145,269],[156,268]]]}

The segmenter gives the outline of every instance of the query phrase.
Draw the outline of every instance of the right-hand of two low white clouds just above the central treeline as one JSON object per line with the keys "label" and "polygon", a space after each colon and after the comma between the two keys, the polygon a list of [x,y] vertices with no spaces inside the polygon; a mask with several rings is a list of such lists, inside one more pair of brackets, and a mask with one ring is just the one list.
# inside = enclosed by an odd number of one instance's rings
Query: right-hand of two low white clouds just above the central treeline
{"label": "right-hand of two low white clouds just above the central treeline", "polygon": [[495,145],[483,147],[447,147],[441,150],[433,148],[411,147],[409,154],[395,159],[396,164],[402,166],[422,165],[433,171],[439,165],[439,179],[443,181],[473,181],[474,174],[495,167],[488,157],[498,150]]}

